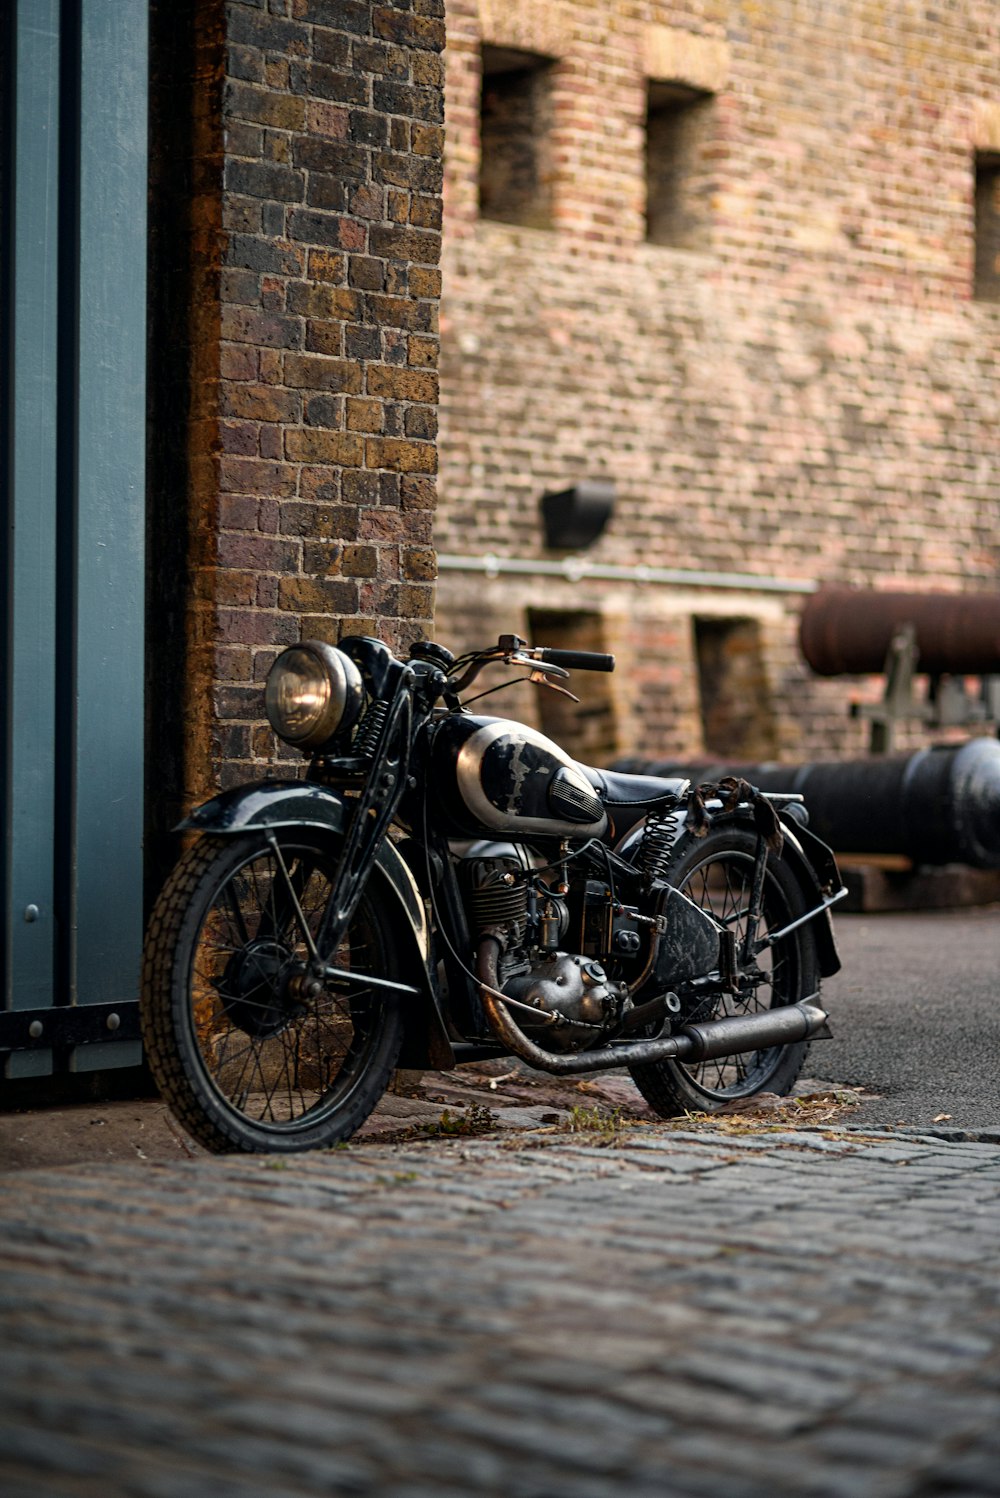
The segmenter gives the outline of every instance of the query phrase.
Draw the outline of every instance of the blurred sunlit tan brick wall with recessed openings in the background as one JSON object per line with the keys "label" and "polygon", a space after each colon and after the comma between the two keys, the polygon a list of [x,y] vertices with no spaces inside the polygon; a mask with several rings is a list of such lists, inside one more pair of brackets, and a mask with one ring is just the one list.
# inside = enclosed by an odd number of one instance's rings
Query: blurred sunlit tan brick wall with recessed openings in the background
{"label": "blurred sunlit tan brick wall with recessed openings in the background", "polygon": [[[549,60],[551,228],[479,214],[484,43]],[[973,289],[1000,10],[448,0],[446,69],[439,551],[557,562],[540,494],[611,476],[582,560],[747,581],[446,571],[437,634],[596,610],[632,662],[620,736],[684,753],[705,733],[695,622],[749,620],[762,740],[859,750],[847,698],[877,683],[811,679],[804,593],[768,584],[996,587],[1000,310]],[[696,106],[687,238],[650,243],[645,111],[677,97]]]}

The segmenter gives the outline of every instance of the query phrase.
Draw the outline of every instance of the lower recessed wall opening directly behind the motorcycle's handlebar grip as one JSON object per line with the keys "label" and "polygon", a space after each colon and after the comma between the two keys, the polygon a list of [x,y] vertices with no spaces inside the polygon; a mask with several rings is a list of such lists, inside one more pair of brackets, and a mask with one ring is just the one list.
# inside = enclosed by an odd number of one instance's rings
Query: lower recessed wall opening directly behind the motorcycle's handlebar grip
{"label": "lower recessed wall opening directly behind the motorcycle's handlebar grip", "polygon": [[[531,644],[555,650],[614,653],[608,649],[605,620],[597,613],[531,608],[528,629]],[[614,679],[603,671],[573,671],[564,685],[579,703],[546,686],[537,688],[542,733],[584,764],[608,764],[623,750]]]}

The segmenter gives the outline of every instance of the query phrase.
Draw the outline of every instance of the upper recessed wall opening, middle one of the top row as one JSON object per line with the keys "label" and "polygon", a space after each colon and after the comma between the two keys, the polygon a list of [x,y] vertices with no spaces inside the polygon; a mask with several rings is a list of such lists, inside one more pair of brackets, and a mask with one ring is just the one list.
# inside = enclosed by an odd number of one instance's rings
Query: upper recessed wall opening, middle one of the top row
{"label": "upper recessed wall opening, middle one of the top row", "polygon": [[648,84],[645,228],[651,244],[708,247],[714,139],[714,94],[683,84]]}

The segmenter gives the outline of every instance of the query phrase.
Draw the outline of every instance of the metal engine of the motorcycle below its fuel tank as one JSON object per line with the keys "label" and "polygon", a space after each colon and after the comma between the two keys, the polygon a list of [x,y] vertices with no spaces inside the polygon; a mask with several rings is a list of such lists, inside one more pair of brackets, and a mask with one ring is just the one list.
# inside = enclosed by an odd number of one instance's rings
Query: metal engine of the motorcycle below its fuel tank
{"label": "metal engine of the motorcycle below its fuel tank", "polygon": [[473,939],[500,938],[501,992],[518,1004],[516,1023],[552,1050],[621,1028],[656,929],[596,872],[585,858],[525,866],[510,845],[481,843],[463,860]]}

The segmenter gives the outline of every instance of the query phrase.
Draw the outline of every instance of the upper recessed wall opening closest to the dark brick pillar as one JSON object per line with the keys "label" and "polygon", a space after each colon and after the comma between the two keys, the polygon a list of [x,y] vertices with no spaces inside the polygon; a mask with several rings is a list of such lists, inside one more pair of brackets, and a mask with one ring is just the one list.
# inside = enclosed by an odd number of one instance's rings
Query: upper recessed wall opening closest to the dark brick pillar
{"label": "upper recessed wall opening closest to the dark brick pillar", "polygon": [[552,61],[509,46],[482,49],[479,213],[500,223],[552,223]]}

